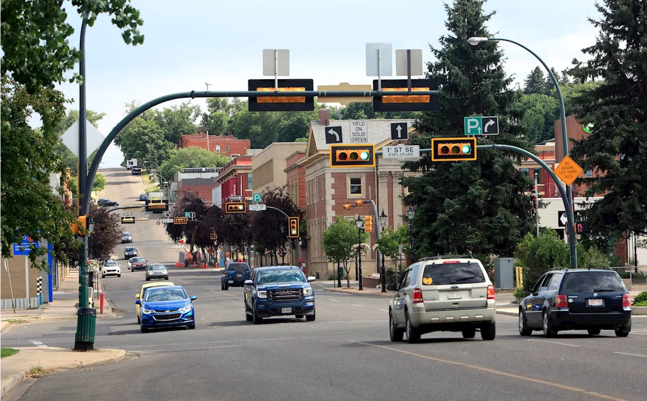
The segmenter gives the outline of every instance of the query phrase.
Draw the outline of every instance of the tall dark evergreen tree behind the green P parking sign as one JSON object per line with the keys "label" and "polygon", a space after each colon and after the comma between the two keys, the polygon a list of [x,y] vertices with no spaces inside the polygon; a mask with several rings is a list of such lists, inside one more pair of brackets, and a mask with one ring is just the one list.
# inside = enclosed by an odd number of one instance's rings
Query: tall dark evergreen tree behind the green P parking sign
{"label": "tall dark evergreen tree behind the green P parking sign", "polygon": [[[510,124],[520,118],[508,107],[519,96],[509,89],[512,79],[503,70],[503,53],[496,41],[477,47],[470,36],[490,36],[484,24],[484,1],[455,0],[446,5],[446,27],[432,52],[429,76],[437,76],[439,113],[425,113],[417,122],[421,136],[413,140],[428,147],[430,136],[464,136],[463,118],[482,114],[499,116],[501,134],[480,140],[529,147],[523,127]],[[410,193],[406,204],[417,208],[413,221],[414,247],[418,255],[471,251],[475,255],[512,255],[516,243],[530,226],[530,180],[518,169],[518,155],[499,150],[478,151],[474,162],[432,162],[425,155],[404,168],[421,171],[420,177],[403,180]]]}

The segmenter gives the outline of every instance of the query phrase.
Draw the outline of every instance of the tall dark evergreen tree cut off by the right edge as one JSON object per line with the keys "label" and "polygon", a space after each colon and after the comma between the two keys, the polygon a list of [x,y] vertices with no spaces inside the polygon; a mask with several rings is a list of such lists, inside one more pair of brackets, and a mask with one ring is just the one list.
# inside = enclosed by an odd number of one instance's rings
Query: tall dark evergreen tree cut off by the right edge
{"label": "tall dark evergreen tree cut off by the right edge", "polygon": [[595,45],[582,50],[590,60],[573,60],[570,72],[579,81],[603,80],[571,100],[578,121],[595,124],[572,155],[584,171],[593,170],[593,177],[578,179],[587,197],[605,194],[587,210],[592,232],[620,238],[647,232],[647,3],[603,3],[596,6],[602,18],[589,19],[600,31]]}

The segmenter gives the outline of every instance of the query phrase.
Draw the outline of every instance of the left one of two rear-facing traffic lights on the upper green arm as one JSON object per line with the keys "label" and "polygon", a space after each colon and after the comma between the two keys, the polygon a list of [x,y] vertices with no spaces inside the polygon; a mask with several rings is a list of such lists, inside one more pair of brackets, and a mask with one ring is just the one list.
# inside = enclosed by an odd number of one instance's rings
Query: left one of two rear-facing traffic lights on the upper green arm
{"label": "left one of two rear-facing traffic lights on the upper green arm", "polygon": [[[248,91],[274,92],[274,80],[248,80]],[[313,91],[314,80],[278,80],[279,92]],[[248,98],[249,111],[313,111],[314,96],[257,96]]]}

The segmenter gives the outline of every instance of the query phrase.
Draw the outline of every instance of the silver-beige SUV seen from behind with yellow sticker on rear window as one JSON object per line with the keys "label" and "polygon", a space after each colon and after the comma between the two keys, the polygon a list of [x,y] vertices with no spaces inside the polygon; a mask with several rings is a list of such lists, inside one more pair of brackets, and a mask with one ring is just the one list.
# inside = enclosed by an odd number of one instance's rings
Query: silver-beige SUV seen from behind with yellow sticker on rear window
{"label": "silver-beige SUV seen from behind with yellow sticker on rear window", "polygon": [[391,341],[417,343],[433,331],[460,331],[483,340],[496,336],[494,285],[478,259],[470,255],[424,257],[409,266],[389,304]]}

